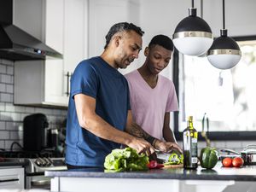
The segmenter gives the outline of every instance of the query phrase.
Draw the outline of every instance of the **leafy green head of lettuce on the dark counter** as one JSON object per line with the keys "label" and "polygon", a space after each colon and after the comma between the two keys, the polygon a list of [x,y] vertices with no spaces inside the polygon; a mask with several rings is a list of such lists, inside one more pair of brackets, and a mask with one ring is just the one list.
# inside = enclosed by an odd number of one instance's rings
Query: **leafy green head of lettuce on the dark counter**
{"label": "leafy green head of lettuce on the dark counter", "polygon": [[117,148],[106,156],[104,167],[107,172],[143,171],[148,170],[148,162],[148,156],[133,148]]}

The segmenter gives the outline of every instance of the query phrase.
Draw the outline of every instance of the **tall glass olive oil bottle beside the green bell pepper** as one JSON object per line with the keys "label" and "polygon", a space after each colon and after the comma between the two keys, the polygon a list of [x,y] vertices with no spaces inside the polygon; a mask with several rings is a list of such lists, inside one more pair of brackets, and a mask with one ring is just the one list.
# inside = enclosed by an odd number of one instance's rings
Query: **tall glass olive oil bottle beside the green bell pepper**
{"label": "tall glass olive oil bottle beside the green bell pepper", "polygon": [[188,127],[183,131],[183,167],[197,168],[197,131],[193,126],[193,117],[189,116]]}

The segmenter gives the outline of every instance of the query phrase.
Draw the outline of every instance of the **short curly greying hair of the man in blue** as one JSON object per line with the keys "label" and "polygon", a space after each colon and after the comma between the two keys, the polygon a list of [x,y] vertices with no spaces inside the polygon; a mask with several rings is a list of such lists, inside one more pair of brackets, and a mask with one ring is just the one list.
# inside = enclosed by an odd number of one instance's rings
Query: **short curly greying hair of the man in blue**
{"label": "short curly greying hair of the man in blue", "polygon": [[106,35],[106,45],[104,49],[108,47],[108,44],[113,37],[113,35],[117,32],[125,32],[125,31],[134,31],[137,32],[140,36],[143,36],[144,32],[139,26],[135,26],[133,23],[127,23],[127,22],[121,22],[121,23],[116,23],[108,31],[108,34]]}

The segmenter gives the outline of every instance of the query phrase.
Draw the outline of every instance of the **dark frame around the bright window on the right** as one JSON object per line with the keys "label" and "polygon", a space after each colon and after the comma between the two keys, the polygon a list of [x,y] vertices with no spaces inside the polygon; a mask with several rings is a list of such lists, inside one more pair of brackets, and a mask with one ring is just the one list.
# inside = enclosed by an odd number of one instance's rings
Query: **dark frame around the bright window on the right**
{"label": "dark frame around the bright window on the right", "polygon": [[[236,41],[250,41],[256,40],[255,36],[240,36],[240,37],[232,37]],[[177,92],[177,100],[179,100],[179,53],[177,49],[173,51],[173,60],[172,60],[172,79]],[[174,135],[177,141],[183,140],[182,132],[178,131],[178,114],[179,112],[173,113],[173,121],[174,121]],[[212,141],[244,141],[244,140],[255,140],[256,139],[256,131],[209,131],[207,133],[207,137]],[[204,141],[205,138],[201,137],[201,131],[199,131],[198,139],[200,141]]]}

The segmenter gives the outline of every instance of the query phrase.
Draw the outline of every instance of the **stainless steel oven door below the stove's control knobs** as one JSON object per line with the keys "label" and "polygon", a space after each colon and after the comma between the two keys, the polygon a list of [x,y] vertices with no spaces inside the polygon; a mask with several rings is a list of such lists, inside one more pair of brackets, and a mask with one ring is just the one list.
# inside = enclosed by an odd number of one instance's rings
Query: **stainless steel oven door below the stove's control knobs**
{"label": "stainless steel oven door below the stove's control knobs", "polygon": [[44,175],[26,176],[26,189],[50,189],[50,178]]}

